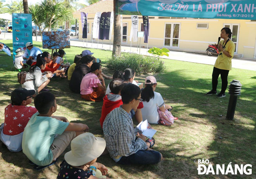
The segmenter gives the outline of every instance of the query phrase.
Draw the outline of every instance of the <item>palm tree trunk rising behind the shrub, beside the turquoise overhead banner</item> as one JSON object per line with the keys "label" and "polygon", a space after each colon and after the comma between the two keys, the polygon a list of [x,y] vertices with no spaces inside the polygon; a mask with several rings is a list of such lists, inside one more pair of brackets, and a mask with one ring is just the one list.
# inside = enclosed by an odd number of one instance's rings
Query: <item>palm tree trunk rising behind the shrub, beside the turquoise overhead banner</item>
{"label": "palm tree trunk rising behind the shrub, beside the turquoise overhead banner", "polygon": [[114,2],[114,39],[112,56],[121,56],[121,16],[116,15],[116,0]]}

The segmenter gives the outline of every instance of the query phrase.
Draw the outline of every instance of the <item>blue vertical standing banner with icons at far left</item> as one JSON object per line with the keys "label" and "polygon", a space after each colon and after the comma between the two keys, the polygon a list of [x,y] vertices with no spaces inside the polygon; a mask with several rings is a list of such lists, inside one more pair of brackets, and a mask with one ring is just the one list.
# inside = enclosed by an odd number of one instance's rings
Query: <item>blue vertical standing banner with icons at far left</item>
{"label": "blue vertical standing banner with icons at far left", "polygon": [[32,15],[31,14],[12,14],[12,45],[13,60],[15,59],[16,50],[21,48],[29,55],[26,49],[26,43],[32,43]]}

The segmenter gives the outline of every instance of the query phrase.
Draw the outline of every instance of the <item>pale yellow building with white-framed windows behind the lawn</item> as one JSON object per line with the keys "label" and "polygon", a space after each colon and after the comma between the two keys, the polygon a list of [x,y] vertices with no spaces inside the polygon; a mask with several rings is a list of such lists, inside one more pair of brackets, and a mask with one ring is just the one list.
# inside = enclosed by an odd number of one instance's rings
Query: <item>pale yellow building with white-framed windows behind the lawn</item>
{"label": "pale yellow building with white-framed windows behind the lawn", "polygon": [[[88,13],[87,40],[96,43],[98,39],[92,38],[93,19],[96,12],[112,12],[113,0],[101,0],[95,4],[74,12],[74,17],[80,19],[79,38],[82,40],[80,12]],[[139,31],[143,31],[142,16],[139,17]],[[168,48],[174,51],[187,51],[205,53],[208,44],[217,43],[220,31],[229,27],[232,31],[232,41],[236,45],[235,56],[256,60],[256,21],[235,19],[194,19],[180,17],[154,17],[149,16],[148,44],[141,39],[141,46],[151,48]],[[122,16],[122,45],[137,46],[139,42],[130,41],[131,16]],[[103,40],[109,44],[113,41]],[[139,41],[139,40],[138,40]],[[102,43],[102,40],[99,40]]]}

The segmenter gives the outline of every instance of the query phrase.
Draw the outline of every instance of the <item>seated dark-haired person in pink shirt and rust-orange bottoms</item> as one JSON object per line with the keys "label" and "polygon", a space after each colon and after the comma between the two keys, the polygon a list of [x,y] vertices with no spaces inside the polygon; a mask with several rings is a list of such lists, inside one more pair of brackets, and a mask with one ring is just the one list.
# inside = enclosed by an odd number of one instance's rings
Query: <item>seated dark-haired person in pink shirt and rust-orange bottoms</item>
{"label": "seated dark-haired person in pink shirt and rust-orange bottoms", "polygon": [[80,87],[81,98],[87,101],[102,101],[106,92],[106,85],[101,74],[100,63],[93,63],[91,71],[91,73],[87,73],[82,79]]}

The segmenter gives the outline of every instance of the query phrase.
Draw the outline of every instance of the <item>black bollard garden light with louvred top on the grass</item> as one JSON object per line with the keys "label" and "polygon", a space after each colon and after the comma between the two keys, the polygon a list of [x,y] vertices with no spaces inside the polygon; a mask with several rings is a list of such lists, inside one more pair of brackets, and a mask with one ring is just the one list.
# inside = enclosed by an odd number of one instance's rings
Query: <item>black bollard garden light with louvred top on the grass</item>
{"label": "black bollard garden light with louvred top on the grass", "polygon": [[237,96],[241,94],[242,85],[240,81],[233,80],[230,82],[228,93],[230,94],[229,102],[228,102],[228,111],[226,118],[228,120],[234,119],[235,114],[235,106],[237,105]]}

